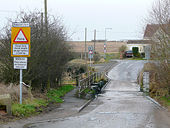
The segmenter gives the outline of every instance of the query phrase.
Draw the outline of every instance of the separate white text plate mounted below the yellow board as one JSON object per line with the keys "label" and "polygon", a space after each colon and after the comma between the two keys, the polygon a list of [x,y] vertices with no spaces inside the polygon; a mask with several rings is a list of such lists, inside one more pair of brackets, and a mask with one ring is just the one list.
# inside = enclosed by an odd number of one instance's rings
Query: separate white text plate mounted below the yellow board
{"label": "separate white text plate mounted below the yellow board", "polygon": [[14,57],[14,69],[27,69],[27,58]]}

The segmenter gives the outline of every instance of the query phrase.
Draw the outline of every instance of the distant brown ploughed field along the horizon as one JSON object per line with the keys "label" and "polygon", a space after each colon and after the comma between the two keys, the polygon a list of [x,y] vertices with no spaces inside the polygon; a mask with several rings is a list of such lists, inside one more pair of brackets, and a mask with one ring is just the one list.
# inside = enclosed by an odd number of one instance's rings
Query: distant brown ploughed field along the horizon
{"label": "distant brown ploughed field along the horizon", "polygon": [[[84,41],[68,41],[67,42],[71,48],[72,51],[74,52],[84,52],[85,49],[85,42]],[[96,52],[99,53],[103,53],[104,50],[104,43],[105,42],[96,42]],[[106,49],[107,49],[107,53],[118,53],[119,52],[119,48],[122,45],[126,45],[126,42],[113,42],[113,41],[108,41],[106,42]],[[88,51],[88,46],[94,46],[94,42],[88,41],[87,42],[87,51]]]}

